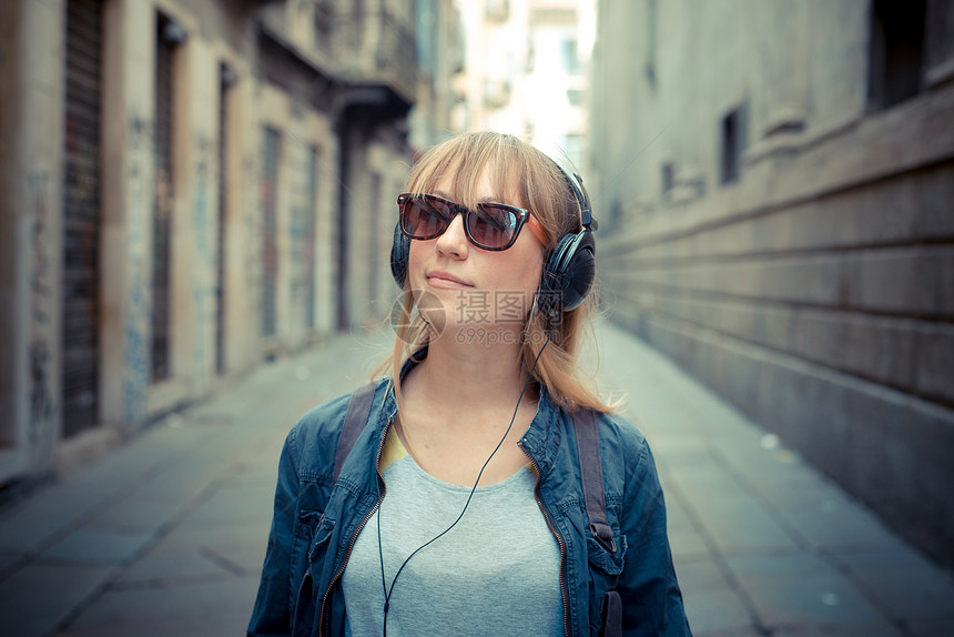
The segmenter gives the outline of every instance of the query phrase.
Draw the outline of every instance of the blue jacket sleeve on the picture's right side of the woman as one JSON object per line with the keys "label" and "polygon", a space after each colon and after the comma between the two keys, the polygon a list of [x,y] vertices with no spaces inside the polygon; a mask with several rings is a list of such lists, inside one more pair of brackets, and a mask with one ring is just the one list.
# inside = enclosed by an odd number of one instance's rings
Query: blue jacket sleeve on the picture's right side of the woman
{"label": "blue jacket sleeve on the picture's right side of the woman", "polygon": [[617,585],[623,635],[690,636],[666,533],[666,502],[656,462],[645,438],[638,449],[620,516],[620,530],[627,538],[626,564]]}

